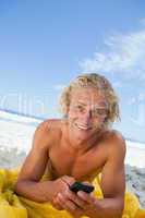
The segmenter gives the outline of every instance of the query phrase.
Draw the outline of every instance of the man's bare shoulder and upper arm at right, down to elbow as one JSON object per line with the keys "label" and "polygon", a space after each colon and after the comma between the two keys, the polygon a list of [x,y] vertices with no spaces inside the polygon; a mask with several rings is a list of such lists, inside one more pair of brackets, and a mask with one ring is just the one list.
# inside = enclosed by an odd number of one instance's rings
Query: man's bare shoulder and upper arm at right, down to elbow
{"label": "man's bare shoulder and upper arm at right, down to elbow", "polygon": [[125,191],[125,141],[120,132],[111,130],[107,142],[108,158],[101,171],[100,186],[104,197],[116,197],[122,209]]}

